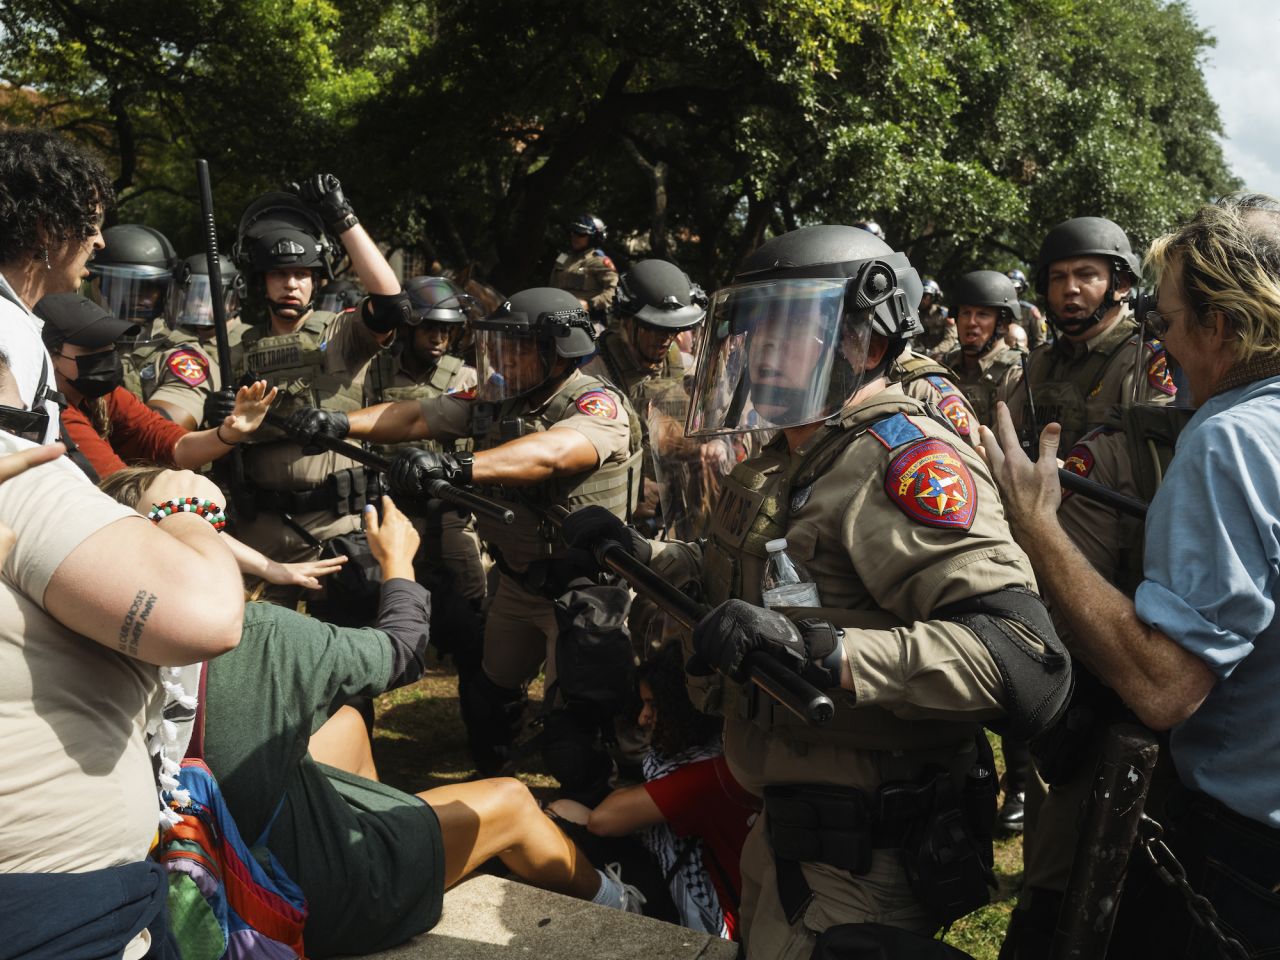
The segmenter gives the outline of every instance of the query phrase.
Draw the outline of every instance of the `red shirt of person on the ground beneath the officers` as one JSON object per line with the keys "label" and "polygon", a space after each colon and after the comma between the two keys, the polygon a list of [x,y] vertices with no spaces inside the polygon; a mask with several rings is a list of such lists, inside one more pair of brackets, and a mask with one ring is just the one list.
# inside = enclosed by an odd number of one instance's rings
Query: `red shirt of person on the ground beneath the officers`
{"label": "red shirt of person on the ground beneath the officers", "polygon": [[[672,831],[703,841],[703,867],[716,884],[724,925],[735,940],[742,897],[742,844],[755,823],[759,801],[742,790],[723,756],[680,767],[644,785]],[[714,859],[714,863],[712,861]],[[728,882],[732,890],[726,890]]]}

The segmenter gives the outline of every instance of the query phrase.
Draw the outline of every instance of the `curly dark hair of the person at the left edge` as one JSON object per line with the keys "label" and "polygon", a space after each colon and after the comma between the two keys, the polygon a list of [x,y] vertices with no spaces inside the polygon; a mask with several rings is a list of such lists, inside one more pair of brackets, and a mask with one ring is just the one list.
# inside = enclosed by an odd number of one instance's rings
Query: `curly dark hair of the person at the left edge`
{"label": "curly dark hair of the person at the left edge", "polygon": [[92,151],[49,131],[0,131],[0,264],[88,239],[114,200]]}

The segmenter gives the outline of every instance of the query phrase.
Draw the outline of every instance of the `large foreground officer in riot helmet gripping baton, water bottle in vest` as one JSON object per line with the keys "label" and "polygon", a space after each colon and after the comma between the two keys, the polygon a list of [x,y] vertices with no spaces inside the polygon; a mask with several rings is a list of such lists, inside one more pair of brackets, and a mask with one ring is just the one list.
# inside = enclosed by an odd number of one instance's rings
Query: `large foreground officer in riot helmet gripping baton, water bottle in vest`
{"label": "large foreground officer in riot helmet gripping baton, water bottle in vest", "polygon": [[[712,301],[689,426],[780,433],[730,476],[709,543],[639,545],[599,511],[564,525],[570,543],[652,554],[713,605],[687,640],[721,680],[690,684],[724,713],[735,778],[764,797],[741,864],[753,956],[828,956],[820,940],[826,928],[867,920],[929,937],[984,902],[979,723],[1036,731],[1069,686],[984,462],[886,383],[919,292],[906,256],[863,230],[768,241]],[[812,605],[762,607],[778,538],[812,575]],[[742,686],[751,650],[827,689],[832,722]]]}

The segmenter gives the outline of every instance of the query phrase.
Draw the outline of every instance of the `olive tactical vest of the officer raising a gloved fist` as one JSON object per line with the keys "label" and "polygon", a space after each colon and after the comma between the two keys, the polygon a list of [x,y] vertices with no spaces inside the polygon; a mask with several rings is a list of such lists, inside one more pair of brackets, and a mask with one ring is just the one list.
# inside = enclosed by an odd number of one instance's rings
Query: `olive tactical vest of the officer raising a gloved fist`
{"label": "olive tactical vest of the officer raising a gloved fist", "polygon": [[288,416],[301,407],[323,407],[351,413],[364,406],[361,384],[325,371],[325,328],[337,317],[314,310],[293,333],[275,335],[253,326],[241,339],[237,374],[247,371],[280,389],[274,412]]}

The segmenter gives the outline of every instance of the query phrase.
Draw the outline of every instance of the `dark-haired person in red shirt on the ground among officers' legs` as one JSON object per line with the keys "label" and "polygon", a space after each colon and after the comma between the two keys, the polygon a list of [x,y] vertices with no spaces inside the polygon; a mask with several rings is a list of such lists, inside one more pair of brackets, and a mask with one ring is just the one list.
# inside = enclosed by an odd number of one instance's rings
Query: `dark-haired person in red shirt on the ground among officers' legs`
{"label": "dark-haired person in red shirt on the ground among officers' legs", "polygon": [[548,810],[598,836],[644,829],[681,923],[733,940],[742,893],[739,860],[759,801],[728,771],[722,722],[689,701],[678,643],[640,664],[636,691],[637,726],[650,732],[654,748],[641,764],[645,782],[614,790],[594,810],[566,799]]}

